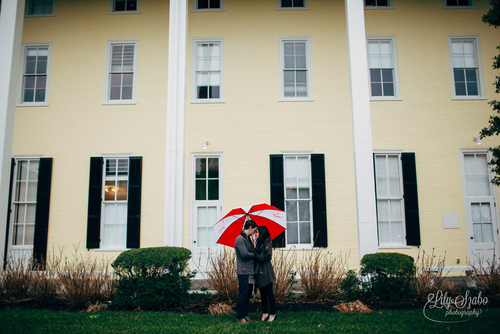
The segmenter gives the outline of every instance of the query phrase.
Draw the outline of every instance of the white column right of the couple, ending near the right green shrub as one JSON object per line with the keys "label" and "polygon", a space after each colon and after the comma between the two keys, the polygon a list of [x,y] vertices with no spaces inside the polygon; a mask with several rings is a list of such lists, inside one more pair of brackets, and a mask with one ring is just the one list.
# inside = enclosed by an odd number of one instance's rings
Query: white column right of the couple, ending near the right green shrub
{"label": "white column right of the couple, ending near the right green shrub", "polygon": [[363,0],[345,0],[359,259],[378,251]]}

